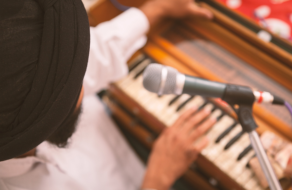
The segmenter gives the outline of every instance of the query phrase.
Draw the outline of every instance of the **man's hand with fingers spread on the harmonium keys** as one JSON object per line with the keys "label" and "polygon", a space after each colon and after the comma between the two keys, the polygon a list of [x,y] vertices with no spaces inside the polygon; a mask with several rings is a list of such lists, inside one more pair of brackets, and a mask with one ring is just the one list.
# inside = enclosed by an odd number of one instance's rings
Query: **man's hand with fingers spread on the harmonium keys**
{"label": "man's hand with fingers spread on the harmonium keys", "polygon": [[[203,136],[217,121],[208,117],[211,110],[197,108],[187,110],[173,126],[165,129],[154,143],[148,159],[143,188],[167,190],[197,159],[208,144]],[[194,143],[200,137],[201,140]]]}

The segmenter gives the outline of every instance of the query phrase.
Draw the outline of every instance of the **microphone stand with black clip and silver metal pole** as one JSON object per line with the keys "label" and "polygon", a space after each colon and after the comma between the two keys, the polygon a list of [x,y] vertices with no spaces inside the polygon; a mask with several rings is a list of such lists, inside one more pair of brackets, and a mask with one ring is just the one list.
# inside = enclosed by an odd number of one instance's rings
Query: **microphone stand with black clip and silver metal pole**
{"label": "microphone stand with black clip and silver metal pole", "polygon": [[244,132],[248,132],[251,140],[251,146],[256,152],[256,156],[259,160],[260,166],[267,179],[271,190],[283,190],[279,179],[267,157],[267,153],[263,147],[260,137],[256,132],[258,127],[253,119],[252,106],[254,102],[253,91],[249,87],[236,86],[233,84],[227,84],[225,94],[222,100],[229,103],[238,116],[238,120],[242,126]]}

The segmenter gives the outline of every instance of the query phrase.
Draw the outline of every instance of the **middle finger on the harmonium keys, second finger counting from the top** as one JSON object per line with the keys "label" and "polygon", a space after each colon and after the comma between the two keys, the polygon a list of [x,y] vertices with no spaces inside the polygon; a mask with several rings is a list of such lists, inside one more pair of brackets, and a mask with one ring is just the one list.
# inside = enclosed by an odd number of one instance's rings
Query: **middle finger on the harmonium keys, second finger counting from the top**
{"label": "middle finger on the harmonium keys, second finger counting from the top", "polygon": [[189,135],[190,131],[193,130],[194,126],[199,124],[202,120],[204,120],[211,113],[211,108],[206,106],[202,110],[200,110],[197,114],[193,115],[189,120],[186,121],[185,125],[182,129],[182,134]]}

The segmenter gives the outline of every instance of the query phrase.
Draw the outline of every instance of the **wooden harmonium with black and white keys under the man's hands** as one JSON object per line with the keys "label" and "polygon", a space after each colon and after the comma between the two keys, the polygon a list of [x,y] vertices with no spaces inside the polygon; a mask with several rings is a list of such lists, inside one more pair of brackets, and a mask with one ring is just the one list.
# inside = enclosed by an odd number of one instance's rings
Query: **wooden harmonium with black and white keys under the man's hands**
{"label": "wooden harmonium with black and white keys under the man's hands", "polygon": [[[120,0],[140,6],[142,0]],[[214,13],[213,20],[166,19],[153,27],[146,46],[129,60],[129,75],[100,93],[114,120],[144,160],[159,133],[188,108],[211,106],[218,121],[207,132],[209,145],[173,189],[269,189],[247,133],[233,109],[216,98],[174,94],[158,96],[142,86],[150,63],[176,68],[187,75],[249,86],[292,103],[292,45],[215,0],[196,1]],[[92,26],[121,13],[112,1],[88,9]],[[291,115],[285,106],[254,104],[253,116],[262,144],[284,190],[291,190]],[[290,160],[290,161],[289,161]]]}

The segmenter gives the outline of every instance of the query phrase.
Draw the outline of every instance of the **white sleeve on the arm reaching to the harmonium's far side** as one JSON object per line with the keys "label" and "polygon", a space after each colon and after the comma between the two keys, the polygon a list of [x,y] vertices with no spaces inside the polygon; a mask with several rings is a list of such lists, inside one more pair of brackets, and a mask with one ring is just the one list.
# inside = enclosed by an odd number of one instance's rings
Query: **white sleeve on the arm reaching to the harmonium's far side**
{"label": "white sleeve on the arm reaching to the harmonium's far side", "polygon": [[84,95],[96,93],[128,73],[127,61],[146,44],[149,27],[146,15],[133,7],[90,28]]}

